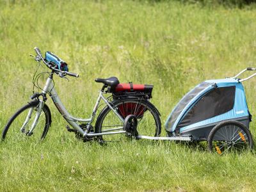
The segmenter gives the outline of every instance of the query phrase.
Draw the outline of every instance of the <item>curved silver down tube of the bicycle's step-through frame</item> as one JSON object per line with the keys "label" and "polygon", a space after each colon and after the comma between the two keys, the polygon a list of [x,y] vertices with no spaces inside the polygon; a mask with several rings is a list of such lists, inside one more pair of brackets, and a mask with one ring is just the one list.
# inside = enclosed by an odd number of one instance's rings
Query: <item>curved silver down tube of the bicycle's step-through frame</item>
{"label": "curved silver down tube of the bicycle's step-through frame", "polygon": [[49,86],[49,92],[51,93],[52,101],[54,102],[56,108],[60,111],[61,115],[65,118],[65,120],[70,124],[74,129],[76,129],[80,134],[84,135],[83,129],[79,127],[75,120],[72,120],[71,115],[68,113],[67,109],[61,102],[60,98],[58,97],[57,92],[54,90],[52,84]]}

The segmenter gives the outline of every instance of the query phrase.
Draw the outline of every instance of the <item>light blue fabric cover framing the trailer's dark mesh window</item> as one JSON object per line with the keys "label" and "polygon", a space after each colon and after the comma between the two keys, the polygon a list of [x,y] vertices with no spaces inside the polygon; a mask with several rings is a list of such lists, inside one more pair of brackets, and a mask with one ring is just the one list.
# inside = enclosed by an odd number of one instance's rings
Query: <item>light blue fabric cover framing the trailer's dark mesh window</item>
{"label": "light blue fabric cover framing the trailer's dark mesh window", "polygon": [[[199,92],[195,93],[195,90],[201,84],[207,85],[204,86],[203,89],[199,90]],[[241,118],[243,116],[249,116],[249,111],[246,103],[246,97],[244,93],[243,84],[239,83],[237,79],[216,79],[216,80],[209,80],[205,81],[204,83],[198,84],[193,90],[188,92],[177,104],[177,106],[173,109],[172,113],[169,115],[168,119],[165,123],[166,131],[174,132],[177,129],[177,125],[179,125],[180,121],[186,113],[188,113],[189,109],[191,109],[196,102],[203,97],[206,93],[214,89],[214,85],[218,88],[227,87],[227,86],[236,86],[235,92],[235,99],[234,99],[234,107],[227,113],[223,113],[218,116],[213,116],[212,118],[208,118],[202,120],[200,122],[196,122],[195,124],[188,125],[186,127],[180,127],[179,131],[188,131],[189,129],[195,129],[195,127],[203,128],[204,125],[207,126],[212,123],[221,122],[222,120],[234,119],[234,118]],[[193,93],[193,95],[191,94]],[[192,97],[193,98],[192,98]],[[181,110],[177,111],[180,108],[180,105],[184,104],[182,100],[189,98],[190,100],[186,102],[186,106],[182,107]],[[209,106],[211,107],[211,106]],[[179,112],[179,114],[175,113]],[[173,118],[175,116],[175,118]]]}

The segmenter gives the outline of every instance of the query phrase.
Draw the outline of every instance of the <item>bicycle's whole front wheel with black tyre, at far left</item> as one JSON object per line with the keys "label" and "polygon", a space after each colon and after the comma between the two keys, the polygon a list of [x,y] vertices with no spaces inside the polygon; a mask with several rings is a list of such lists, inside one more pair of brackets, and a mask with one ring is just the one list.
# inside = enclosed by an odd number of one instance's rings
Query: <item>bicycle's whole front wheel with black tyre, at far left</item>
{"label": "bicycle's whole front wheel with black tyre, at far left", "polygon": [[[35,129],[32,134],[28,134],[35,121],[38,102],[32,101],[20,108],[8,121],[2,132],[2,140],[8,138],[14,142],[24,140],[44,140],[51,125],[51,112],[44,104]],[[8,133],[8,134],[7,134]]]}

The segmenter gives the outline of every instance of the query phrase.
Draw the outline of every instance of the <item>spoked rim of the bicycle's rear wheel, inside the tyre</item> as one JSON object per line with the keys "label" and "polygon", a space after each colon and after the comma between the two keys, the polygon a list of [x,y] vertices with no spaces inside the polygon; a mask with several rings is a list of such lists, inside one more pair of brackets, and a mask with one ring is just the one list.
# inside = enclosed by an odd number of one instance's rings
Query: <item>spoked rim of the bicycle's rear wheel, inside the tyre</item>
{"label": "spoked rim of the bicycle's rear wheel, inside the tyre", "polygon": [[[156,114],[145,103],[140,101],[124,101],[116,104],[115,107],[123,118],[128,115],[136,116],[138,120],[137,130],[140,135],[159,136],[159,125]],[[102,119],[99,127],[100,132],[115,128],[120,128],[119,131],[123,131],[123,123],[110,109]],[[108,140],[110,138],[111,140],[116,140],[122,137],[120,137],[120,134],[115,134],[108,136]]]}

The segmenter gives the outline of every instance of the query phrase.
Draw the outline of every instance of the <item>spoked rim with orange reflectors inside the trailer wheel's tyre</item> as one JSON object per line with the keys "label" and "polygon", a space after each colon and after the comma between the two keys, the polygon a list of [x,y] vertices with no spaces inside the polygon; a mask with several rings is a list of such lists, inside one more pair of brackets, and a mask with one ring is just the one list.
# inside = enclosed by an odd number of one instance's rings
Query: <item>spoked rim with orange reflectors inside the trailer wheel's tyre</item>
{"label": "spoked rim with orange reflectors inside the trailer wheel's tyre", "polygon": [[212,150],[218,154],[241,152],[250,148],[250,138],[237,125],[224,125],[217,129],[212,138]]}

